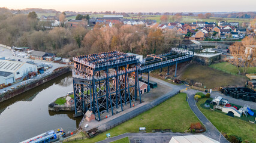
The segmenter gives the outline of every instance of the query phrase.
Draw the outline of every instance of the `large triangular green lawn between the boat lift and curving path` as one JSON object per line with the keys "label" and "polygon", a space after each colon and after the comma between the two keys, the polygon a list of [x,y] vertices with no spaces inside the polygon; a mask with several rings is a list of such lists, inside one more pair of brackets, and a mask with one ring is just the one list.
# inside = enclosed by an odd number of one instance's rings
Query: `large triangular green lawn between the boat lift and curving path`
{"label": "large triangular green lawn between the boat lift and curving path", "polygon": [[137,117],[107,130],[107,132],[94,138],[76,142],[97,142],[105,139],[106,133],[117,136],[126,132],[138,132],[140,127],[146,127],[146,132],[152,132],[153,129],[171,129],[173,132],[184,132],[191,123],[195,122],[200,121],[186,102],[186,94],[180,93]]}

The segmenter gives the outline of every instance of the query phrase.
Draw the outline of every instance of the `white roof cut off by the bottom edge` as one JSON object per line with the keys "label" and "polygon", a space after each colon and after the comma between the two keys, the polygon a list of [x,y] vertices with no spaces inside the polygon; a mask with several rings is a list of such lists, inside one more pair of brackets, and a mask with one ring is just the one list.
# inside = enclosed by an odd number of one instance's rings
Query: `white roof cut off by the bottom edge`
{"label": "white roof cut off by the bottom edge", "polygon": [[173,136],[169,143],[219,143],[205,135]]}

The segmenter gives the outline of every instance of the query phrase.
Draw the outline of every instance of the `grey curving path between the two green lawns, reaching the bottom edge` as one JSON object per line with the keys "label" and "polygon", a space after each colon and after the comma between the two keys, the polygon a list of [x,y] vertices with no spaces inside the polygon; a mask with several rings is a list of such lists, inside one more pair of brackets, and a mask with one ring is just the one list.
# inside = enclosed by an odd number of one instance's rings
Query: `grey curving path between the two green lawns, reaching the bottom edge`
{"label": "grey curving path between the two green lawns, reaching the bottom edge", "polygon": [[[195,115],[198,117],[198,119],[203,123],[203,125],[206,127],[206,132],[203,133],[203,135],[206,135],[210,138],[215,139],[216,141],[219,141],[219,136],[221,133],[218,129],[215,128],[215,126],[212,125],[212,123],[204,116],[203,113],[198,109],[197,105],[195,104],[194,95],[198,92],[194,89],[189,89],[188,91],[185,91],[185,93],[188,95],[188,104],[191,110],[195,113]],[[221,135],[220,142],[228,142],[227,139],[224,138],[224,136]]]}

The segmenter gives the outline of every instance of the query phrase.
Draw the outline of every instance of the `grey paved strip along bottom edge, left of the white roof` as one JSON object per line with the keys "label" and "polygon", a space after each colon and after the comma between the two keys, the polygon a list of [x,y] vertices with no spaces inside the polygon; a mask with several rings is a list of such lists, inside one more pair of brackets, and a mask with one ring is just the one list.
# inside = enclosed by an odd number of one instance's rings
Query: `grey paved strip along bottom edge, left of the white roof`
{"label": "grey paved strip along bottom edge, left of the white roof", "polygon": [[135,142],[135,140],[140,139],[141,142],[155,142],[155,143],[168,143],[173,136],[183,136],[183,135],[191,135],[190,133],[124,133],[119,136],[115,136],[113,138],[106,139],[104,141],[99,141],[97,143],[106,143],[113,142],[118,139],[125,138],[129,136],[129,140],[131,143]]}

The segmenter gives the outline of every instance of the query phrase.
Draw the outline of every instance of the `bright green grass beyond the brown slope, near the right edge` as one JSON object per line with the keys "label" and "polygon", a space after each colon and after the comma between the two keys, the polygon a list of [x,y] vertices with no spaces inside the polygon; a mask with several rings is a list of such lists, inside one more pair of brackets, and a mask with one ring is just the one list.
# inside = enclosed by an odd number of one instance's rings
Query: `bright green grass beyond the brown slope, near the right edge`
{"label": "bright green grass beyond the brown slope, near the right edge", "polygon": [[[228,62],[212,64],[210,67],[217,67],[218,69],[228,71],[233,74],[238,74],[237,67]],[[240,71],[243,71],[243,67],[240,68]],[[246,73],[256,73],[256,67],[249,67]]]}

